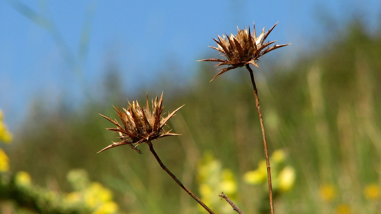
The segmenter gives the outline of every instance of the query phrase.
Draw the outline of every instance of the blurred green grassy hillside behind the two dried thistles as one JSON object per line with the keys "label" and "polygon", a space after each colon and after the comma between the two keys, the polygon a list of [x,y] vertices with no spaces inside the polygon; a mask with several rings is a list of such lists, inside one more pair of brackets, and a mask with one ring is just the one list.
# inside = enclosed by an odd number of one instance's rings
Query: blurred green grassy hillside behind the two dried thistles
{"label": "blurred green grassy hillside behind the two dried thistles", "polygon": [[[278,214],[377,213],[381,206],[379,196],[363,194],[370,184],[377,184],[379,191],[381,182],[381,37],[368,35],[354,22],[336,38],[291,67],[275,62],[268,70],[255,70],[269,153],[284,149],[296,169],[294,188],[275,201]],[[264,159],[249,74],[234,70],[209,82],[216,72],[200,64],[197,77],[176,93],[160,86],[149,89],[152,97],[164,90],[164,111],[185,104],[168,124],[182,136],[154,142],[155,150],[194,192],[197,162],[211,151],[223,168],[234,172],[240,208],[258,213],[266,192],[242,179]],[[91,180],[114,191],[126,213],[199,212],[146,145],[140,146],[142,155],[128,146],[96,154],[116,137],[105,129],[111,123],[98,113],[116,117],[111,105],[126,106],[126,97],[144,103],[146,91],[123,93],[117,76],[104,80],[104,99],[88,99],[80,108],[62,102],[52,109],[44,97],[36,100],[13,133],[13,144],[5,147],[11,170],[29,172],[39,185],[55,182],[69,191],[67,172],[83,168]],[[331,187],[334,196],[322,196],[325,187]]]}

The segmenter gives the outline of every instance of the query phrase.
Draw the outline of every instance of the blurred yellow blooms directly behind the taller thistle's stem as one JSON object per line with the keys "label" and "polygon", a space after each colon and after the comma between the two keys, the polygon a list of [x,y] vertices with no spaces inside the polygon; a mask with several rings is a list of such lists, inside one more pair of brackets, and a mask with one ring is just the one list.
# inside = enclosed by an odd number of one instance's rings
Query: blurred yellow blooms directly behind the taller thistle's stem
{"label": "blurred yellow blooms directly behind the taller thistle's stem", "polygon": [[[287,192],[295,184],[295,169],[285,164],[285,157],[283,150],[276,150],[270,158],[272,188],[274,191]],[[260,161],[257,169],[246,172],[243,175],[243,180],[247,184],[267,184],[266,161]]]}

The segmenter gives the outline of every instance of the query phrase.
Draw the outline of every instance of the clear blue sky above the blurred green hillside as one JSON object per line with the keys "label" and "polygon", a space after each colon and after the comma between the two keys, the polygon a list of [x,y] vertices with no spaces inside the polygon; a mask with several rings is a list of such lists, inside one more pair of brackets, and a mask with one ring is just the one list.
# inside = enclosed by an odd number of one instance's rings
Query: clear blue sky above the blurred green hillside
{"label": "clear blue sky above the blurred green hillside", "polygon": [[[366,2],[366,3],[365,3]],[[15,128],[34,97],[54,105],[62,94],[80,99],[96,90],[110,62],[125,90],[155,81],[175,62],[176,82],[189,80],[213,50],[210,37],[252,26],[269,40],[292,43],[272,54],[291,59],[332,36],[354,14],[378,28],[379,0],[13,1],[0,0],[0,109]],[[187,71],[187,72],[184,72]]]}

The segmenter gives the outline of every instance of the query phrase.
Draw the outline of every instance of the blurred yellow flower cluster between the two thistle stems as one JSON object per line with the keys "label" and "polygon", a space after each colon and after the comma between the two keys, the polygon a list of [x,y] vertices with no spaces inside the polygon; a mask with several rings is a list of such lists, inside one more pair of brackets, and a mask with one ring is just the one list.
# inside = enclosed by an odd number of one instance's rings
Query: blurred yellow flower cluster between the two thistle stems
{"label": "blurred yellow flower cluster between the two thistle stems", "polygon": [[234,213],[231,206],[223,203],[224,201],[218,197],[221,192],[224,192],[231,200],[234,200],[237,182],[233,172],[230,169],[223,169],[221,162],[216,160],[210,152],[203,155],[197,166],[197,172],[201,200],[218,213]]}

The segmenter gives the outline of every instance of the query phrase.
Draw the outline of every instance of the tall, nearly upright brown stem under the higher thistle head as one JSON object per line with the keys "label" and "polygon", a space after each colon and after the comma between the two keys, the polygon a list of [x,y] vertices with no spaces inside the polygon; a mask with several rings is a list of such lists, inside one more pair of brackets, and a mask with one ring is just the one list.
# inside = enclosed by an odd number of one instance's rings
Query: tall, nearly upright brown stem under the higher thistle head
{"label": "tall, nearly upright brown stem under the higher thistle head", "polygon": [[274,214],[274,204],[272,201],[272,185],[271,185],[271,169],[270,169],[271,167],[270,167],[270,161],[269,161],[269,154],[267,152],[267,141],[266,141],[266,134],[264,132],[263,117],[262,117],[261,108],[259,107],[258,89],[255,85],[253,70],[251,70],[248,64],[246,65],[246,69],[250,72],[251,83],[253,84],[253,89],[254,89],[255,105],[258,110],[259,122],[261,123],[264,155],[266,157],[266,165],[267,165],[267,180],[269,181],[270,209],[271,209],[271,214]]}

